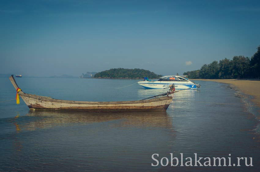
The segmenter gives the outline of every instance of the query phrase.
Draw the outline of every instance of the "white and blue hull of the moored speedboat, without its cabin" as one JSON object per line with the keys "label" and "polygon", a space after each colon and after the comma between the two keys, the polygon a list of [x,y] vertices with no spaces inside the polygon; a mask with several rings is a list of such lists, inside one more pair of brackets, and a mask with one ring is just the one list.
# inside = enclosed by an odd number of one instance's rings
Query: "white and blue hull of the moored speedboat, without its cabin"
{"label": "white and blue hull of the moored speedboat, without its cabin", "polygon": [[138,82],[140,86],[146,89],[165,89],[169,88],[169,85],[174,84],[175,90],[184,89],[197,89],[197,86],[192,82],[160,82],[160,81],[140,81]]}

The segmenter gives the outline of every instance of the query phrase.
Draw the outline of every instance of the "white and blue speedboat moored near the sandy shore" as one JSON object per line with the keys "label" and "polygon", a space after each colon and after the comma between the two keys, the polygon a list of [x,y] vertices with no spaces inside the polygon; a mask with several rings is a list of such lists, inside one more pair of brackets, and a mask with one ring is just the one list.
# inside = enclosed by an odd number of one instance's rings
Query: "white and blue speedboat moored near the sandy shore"
{"label": "white and blue speedboat moored near the sandy shore", "polygon": [[150,81],[146,77],[143,81],[138,82],[139,85],[143,86],[146,89],[165,89],[169,85],[174,84],[176,90],[183,89],[197,89],[200,87],[200,84],[195,84],[190,81],[186,76],[163,76],[158,79],[158,81]]}

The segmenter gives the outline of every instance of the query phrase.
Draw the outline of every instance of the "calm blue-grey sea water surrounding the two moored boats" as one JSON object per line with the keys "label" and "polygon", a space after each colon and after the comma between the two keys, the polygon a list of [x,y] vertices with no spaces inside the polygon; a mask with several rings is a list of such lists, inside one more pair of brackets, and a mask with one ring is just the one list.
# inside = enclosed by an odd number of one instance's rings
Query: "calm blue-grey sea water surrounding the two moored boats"
{"label": "calm blue-grey sea water surrounding the two moored boats", "polygon": [[[16,78],[25,93],[63,100],[140,100],[166,92],[145,90],[138,80]],[[166,112],[87,113],[29,110],[22,99],[0,103],[0,171],[260,170],[257,108],[227,84],[196,81],[199,90],[175,93]],[[0,78],[0,101],[15,98]],[[245,106],[246,105],[246,106]],[[152,154],[252,157],[253,167],[152,167]],[[231,154],[229,156],[228,154]],[[184,160],[185,161],[185,160]],[[164,162],[165,163],[165,162]],[[249,163],[249,160],[248,160]],[[228,165],[228,164],[227,164]]]}

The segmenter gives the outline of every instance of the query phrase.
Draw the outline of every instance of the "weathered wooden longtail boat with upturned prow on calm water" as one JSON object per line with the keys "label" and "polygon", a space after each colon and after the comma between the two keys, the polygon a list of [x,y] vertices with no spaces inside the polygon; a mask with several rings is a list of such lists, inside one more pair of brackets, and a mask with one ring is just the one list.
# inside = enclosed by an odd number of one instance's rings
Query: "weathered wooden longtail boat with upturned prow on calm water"
{"label": "weathered wooden longtail boat with upturned prow on calm water", "polygon": [[[38,96],[19,91],[19,87],[13,78],[9,77],[14,88],[30,109],[53,110],[83,110],[87,112],[140,112],[140,111],[166,111],[172,101],[171,96],[163,96],[149,100],[116,101],[116,102],[89,102],[58,100],[50,97]],[[19,96],[18,95],[18,96]]]}

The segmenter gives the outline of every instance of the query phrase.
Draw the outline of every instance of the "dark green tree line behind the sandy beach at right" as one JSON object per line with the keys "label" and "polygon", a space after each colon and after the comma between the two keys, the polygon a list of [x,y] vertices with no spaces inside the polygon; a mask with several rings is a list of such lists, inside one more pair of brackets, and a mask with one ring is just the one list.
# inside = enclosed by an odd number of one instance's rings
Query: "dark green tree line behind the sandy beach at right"
{"label": "dark green tree line behind the sandy beach at right", "polygon": [[200,70],[184,72],[191,79],[249,79],[260,77],[260,46],[251,57],[234,56],[203,65]]}

